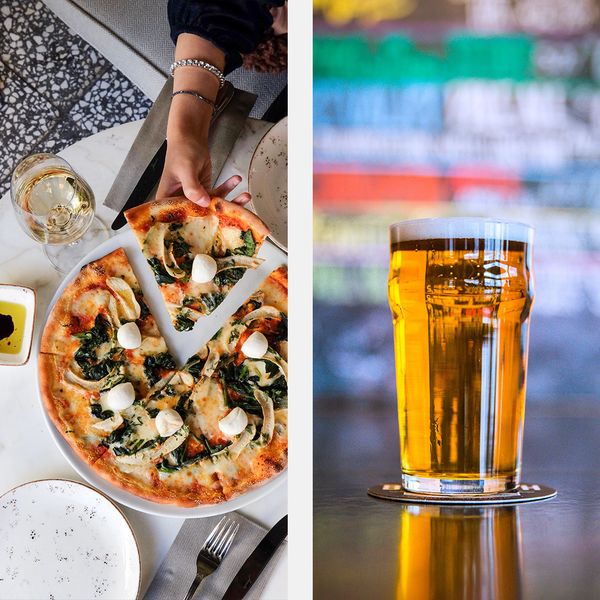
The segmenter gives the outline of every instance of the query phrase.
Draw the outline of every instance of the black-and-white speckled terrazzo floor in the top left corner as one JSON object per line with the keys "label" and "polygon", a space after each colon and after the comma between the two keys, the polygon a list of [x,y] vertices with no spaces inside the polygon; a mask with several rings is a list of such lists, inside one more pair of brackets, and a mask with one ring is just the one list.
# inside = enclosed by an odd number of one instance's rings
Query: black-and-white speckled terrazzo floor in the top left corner
{"label": "black-and-white speckled terrazzo floor in the top left corner", "polygon": [[151,105],[42,2],[0,0],[0,195],[24,156],[142,119]]}

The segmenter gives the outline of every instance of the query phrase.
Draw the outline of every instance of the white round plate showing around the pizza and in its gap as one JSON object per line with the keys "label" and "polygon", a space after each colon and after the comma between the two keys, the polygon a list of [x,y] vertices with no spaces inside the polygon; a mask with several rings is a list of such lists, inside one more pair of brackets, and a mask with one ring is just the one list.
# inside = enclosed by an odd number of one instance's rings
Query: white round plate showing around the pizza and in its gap
{"label": "white round plate showing around the pizza and in its gap", "polygon": [[[81,261],[81,263],[75,266],[75,268],[65,277],[58,290],[56,290],[52,301],[50,302],[48,314],[52,310],[52,307],[58,298],[60,298],[68,283],[77,275],[77,273],[79,273],[81,267],[88,264],[92,260],[96,260],[102,256],[105,256],[117,248],[123,248],[125,250],[135,276],[137,277],[140,287],[142,288],[144,299],[158,323],[158,327],[165,338],[165,341],[167,342],[169,351],[179,366],[182,366],[192,354],[195,354],[208,340],[210,340],[210,338],[220,329],[223,323],[225,323],[225,321],[227,321],[227,319],[244,303],[248,296],[250,296],[258,288],[265,277],[267,277],[267,275],[269,275],[273,269],[276,269],[277,267],[287,263],[287,256],[285,253],[271,244],[268,240],[265,241],[260,249],[260,252],[258,253],[258,256],[263,258],[265,262],[263,262],[257,269],[249,269],[244,274],[242,279],[240,279],[240,281],[235,285],[221,305],[212,314],[202,317],[196,323],[194,329],[183,332],[176,331],[171,323],[169,313],[164,305],[158,284],[154,279],[154,275],[140,251],[133,232],[127,227],[122,232],[100,244],[93,252],[90,252],[90,254],[88,254]],[[46,321],[48,320],[47,315]],[[41,335],[39,340],[41,340]],[[37,355],[39,354],[39,340],[36,352],[36,360]],[[102,490],[114,500],[117,500],[121,504],[129,506],[130,508],[141,510],[142,512],[164,517],[177,518],[210,517],[213,515],[219,515],[232,510],[238,510],[239,508],[258,500],[259,498],[262,498],[287,479],[287,471],[284,471],[272,479],[269,479],[266,483],[249,490],[245,494],[219,504],[184,508],[172,504],[151,502],[150,500],[140,498],[113,485],[98,475],[98,473],[96,473],[93,469],[91,469],[87,463],[79,458],[68,442],[63,438],[62,434],[56,429],[54,423],[46,413],[41,396],[40,402],[42,405],[44,420],[46,421],[46,425],[48,426],[50,434],[66,459],[71,463],[71,466],[86,481],[91,483],[94,487],[97,487],[99,490]]]}

